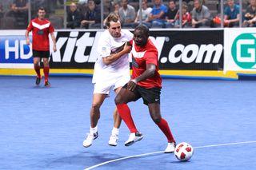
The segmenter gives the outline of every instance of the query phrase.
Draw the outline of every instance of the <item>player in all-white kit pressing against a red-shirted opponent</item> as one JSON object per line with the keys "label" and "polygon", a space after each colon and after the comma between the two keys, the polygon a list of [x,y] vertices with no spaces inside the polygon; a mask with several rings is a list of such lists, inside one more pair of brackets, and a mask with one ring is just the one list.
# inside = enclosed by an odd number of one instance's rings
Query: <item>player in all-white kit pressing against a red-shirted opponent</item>
{"label": "player in all-white kit pressing against a red-shirted opponent", "polygon": [[[90,147],[93,140],[98,137],[98,120],[100,118],[100,107],[110,90],[118,93],[123,85],[130,81],[130,62],[128,53],[131,46],[128,45],[133,38],[129,30],[121,29],[121,22],[117,14],[111,13],[106,18],[106,30],[98,41],[99,57],[94,65],[94,95],[90,109],[90,133],[83,141],[84,147]],[[110,136],[109,144],[118,144],[119,127],[121,117],[117,109],[114,111],[114,128]]]}

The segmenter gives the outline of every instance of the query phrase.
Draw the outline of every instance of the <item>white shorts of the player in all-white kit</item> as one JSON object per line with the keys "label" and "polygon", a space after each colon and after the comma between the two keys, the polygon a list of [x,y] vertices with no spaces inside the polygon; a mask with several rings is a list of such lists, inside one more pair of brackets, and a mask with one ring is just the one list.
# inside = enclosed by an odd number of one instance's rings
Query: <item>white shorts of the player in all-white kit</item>
{"label": "white shorts of the player in all-white kit", "polygon": [[111,88],[113,88],[113,90],[118,89],[118,87],[126,85],[128,81],[130,81],[130,73],[110,73],[107,76],[107,79],[102,78],[101,80],[96,81],[96,83],[94,84],[94,93],[109,95]]}

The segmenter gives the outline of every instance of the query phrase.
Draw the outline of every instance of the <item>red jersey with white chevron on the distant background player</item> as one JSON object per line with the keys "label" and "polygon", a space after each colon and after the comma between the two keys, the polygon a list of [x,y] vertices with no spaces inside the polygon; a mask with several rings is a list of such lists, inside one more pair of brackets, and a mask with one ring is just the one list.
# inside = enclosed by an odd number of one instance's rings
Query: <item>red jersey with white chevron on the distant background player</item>
{"label": "red jersey with white chevron on the distant background player", "polygon": [[26,30],[32,31],[32,49],[38,51],[50,50],[49,34],[54,32],[54,26],[48,20],[35,18],[30,21]]}

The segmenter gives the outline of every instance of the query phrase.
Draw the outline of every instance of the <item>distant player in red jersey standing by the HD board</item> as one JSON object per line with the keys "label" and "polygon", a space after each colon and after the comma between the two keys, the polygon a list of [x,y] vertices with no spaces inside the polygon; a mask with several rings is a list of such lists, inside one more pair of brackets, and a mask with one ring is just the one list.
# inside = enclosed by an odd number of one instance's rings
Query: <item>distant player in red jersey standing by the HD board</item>
{"label": "distant player in red jersey standing by the HD board", "polygon": [[43,61],[43,73],[45,75],[45,86],[49,87],[49,57],[50,57],[50,42],[49,34],[53,41],[53,50],[56,49],[56,40],[54,37],[54,26],[51,25],[50,21],[45,19],[46,10],[43,7],[38,8],[38,18],[30,21],[29,26],[26,29],[26,44],[30,45],[29,33],[32,31],[32,49],[33,49],[33,61],[34,70],[37,73],[36,85],[40,84],[41,73],[39,62],[42,58]]}

